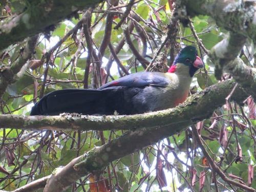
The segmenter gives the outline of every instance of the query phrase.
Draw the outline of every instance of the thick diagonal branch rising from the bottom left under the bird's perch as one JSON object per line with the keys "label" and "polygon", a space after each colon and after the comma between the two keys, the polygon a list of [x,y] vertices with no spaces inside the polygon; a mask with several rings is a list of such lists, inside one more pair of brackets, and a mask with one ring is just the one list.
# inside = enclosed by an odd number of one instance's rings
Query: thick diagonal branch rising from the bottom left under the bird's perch
{"label": "thick diagonal branch rising from the bottom left under the bird's perch", "polygon": [[[96,173],[116,159],[140,150],[147,145],[154,144],[160,139],[184,131],[187,126],[209,117],[217,106],[225,103],[225,97],[232,90],[234,84],[234,81],[221,82],[199,94],[195,94],[193,97],[189,98],[189,101],[183,106],[179,106],[174,110],[156,112],[159,118],[164,121],[164,124],[161,124],[157,120],[159,125],[152,125],[150,126],[151,128],[145,126],[143,129],[130,131],[101,147],[94,148],[88,154],[74,159],[52,175],[51,179],[48,181],[48,190],[46,191],[62,191],[63,188],[69,186],[80,177],[89,173]],[[204,99],[202,99],[202,97]],[[244,94],[241,88],[238,88],[233,93],[231,100],[235,99],[238,102],[242,102],[246,97],[247,95]],[[201,106],[203,105],[207,111],[202,111]],[[186,110],[187,107],[189,111]],[[197,108],[200,108],[199,111],[197,111]],[[171,120],[168,121],[164,116],[165,113],[172,113],[171,111],[183,116],[182,118],[186,118],[175,120],[173,116],[169,114],[168,118]],[[144,116],[145,115],[149,114],[144,114]],[[172,115],[178,118],[175,114]],[[118,116],[116,117],[118,118]],[[129,118],[132,117],[134,116],[129,116]],[[135,120],[133,119],[132,121]],[[144,119],[144,122],[146,121],[148,121],[147,118]],[[137,120],[136,123],[140,124],[140,121]],[[127,127],[129,128],[130,125],[127,124]],[[67,175],[69,175],[69,177],[65,177]]]}

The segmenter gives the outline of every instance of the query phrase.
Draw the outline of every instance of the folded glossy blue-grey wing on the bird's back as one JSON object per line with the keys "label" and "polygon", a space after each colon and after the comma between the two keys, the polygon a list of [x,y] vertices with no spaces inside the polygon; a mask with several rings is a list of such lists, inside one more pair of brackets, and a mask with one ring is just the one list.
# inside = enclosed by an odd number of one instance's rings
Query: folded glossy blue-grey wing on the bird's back
{"label": "folded glossy blue-grey wing on the bird's back", "polygon": [[160,72],[139,72],[133,73],[117,80],[108,82],[101,86],[99,89],[124,86],[132,88],[140,88],[146,86],[166,87],[169,83],[168,78],[165,77],[164,73]]}

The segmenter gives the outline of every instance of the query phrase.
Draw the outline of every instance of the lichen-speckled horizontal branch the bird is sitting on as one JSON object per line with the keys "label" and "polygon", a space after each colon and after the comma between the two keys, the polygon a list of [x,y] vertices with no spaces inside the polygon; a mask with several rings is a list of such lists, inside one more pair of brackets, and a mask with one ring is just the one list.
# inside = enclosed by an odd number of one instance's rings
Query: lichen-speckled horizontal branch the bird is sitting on
{"label": "lichen-speckled horizontal branch the bird is sitting on", "polygon": [[[233,81],[224,81],[190,96],[184,104],[174,109],[129,116],[19,116],[1,115],[0,127],[26,130],[135,130],[144,127],[160,127],[180,122],[195,123],[208,118],[225,103],[225,98],[234,87]],[[255,92],[255,90],[254,90]],[[238,87],[233,99],[242,101],[247,97]]]}

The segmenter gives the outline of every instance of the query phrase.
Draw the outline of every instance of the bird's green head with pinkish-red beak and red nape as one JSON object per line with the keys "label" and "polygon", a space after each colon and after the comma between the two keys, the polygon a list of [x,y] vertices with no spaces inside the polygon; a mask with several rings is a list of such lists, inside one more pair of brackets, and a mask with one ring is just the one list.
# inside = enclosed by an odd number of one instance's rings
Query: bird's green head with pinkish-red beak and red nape
{"label": "bird's green head with pinkish-red beak and red nape", "polygon": [[196,71],[203,67],[203,61],[197,56],[197,49],[194,46],[186,46],[176,56],[174,63],[169,68],[168,72],[184,72],[188,69],[190,77],[193,77]]}

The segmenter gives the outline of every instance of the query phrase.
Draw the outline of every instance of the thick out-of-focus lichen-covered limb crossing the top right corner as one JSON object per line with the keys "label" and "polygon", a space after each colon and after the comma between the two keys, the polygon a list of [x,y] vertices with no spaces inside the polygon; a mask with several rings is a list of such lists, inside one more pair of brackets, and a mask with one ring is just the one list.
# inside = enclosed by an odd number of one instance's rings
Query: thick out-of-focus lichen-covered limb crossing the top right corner
{"label": "thick out-of-focus lichen-covered limb crossing the top right corner", "polygon": [[256,5],[253,1],[177,0],[177,7],[182,18],[186,15],[184,11],[190,16],[209,15],[219,27],[256,39]]}

